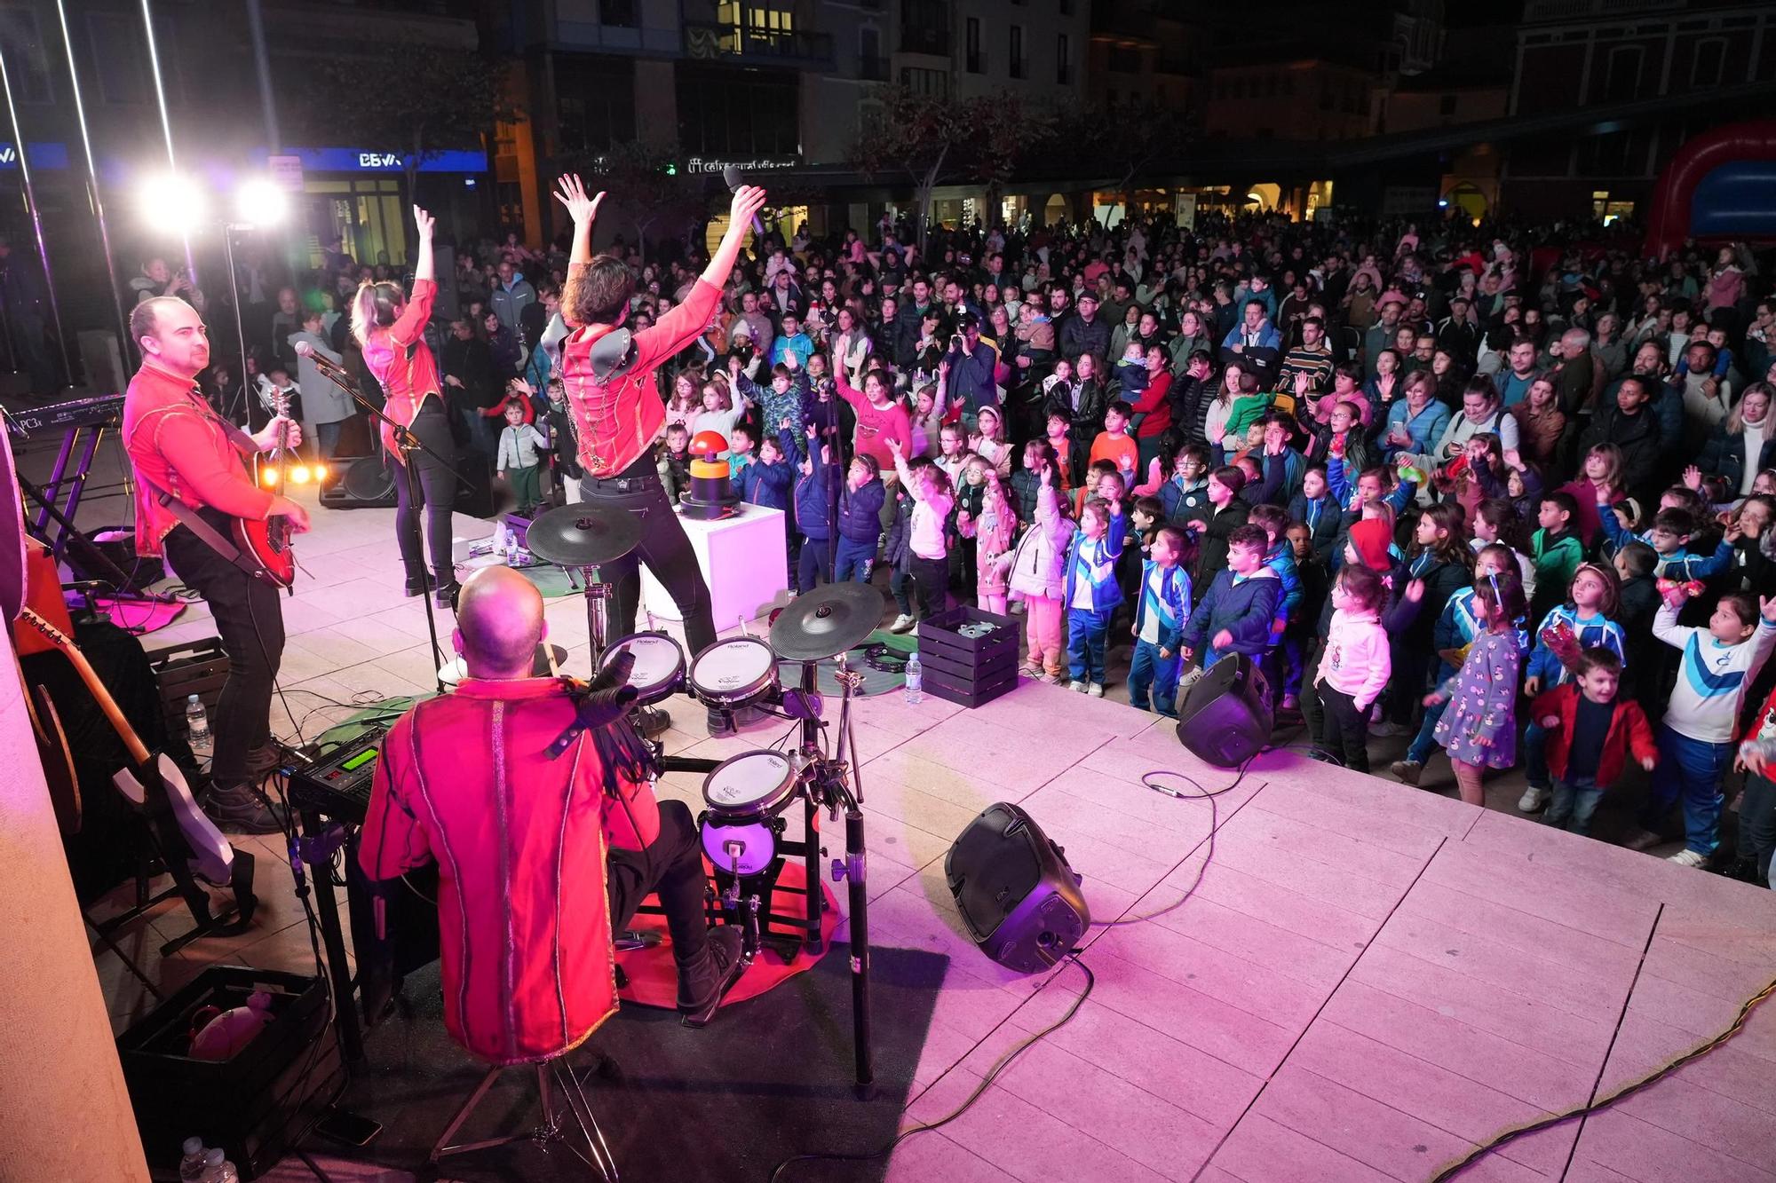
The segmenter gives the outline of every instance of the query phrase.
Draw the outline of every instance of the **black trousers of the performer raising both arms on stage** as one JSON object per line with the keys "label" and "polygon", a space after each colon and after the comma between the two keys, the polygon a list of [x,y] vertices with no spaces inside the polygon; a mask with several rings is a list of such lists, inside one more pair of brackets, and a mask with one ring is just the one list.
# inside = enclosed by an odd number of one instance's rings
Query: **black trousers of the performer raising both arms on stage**
{"label": "black trousers of the performer raising both arms on stage", "polygon": [[643,455],[616,476],[583,476],[579,496],[581,501],[613,506],[641,519],[641,542],[636,549],[600,568],[613,592],[606,600],[607,638],[616,639],[636,631],[641,563],[646,563],[678,606],[691,654],[696,655],[714,645],[716,620],[710,615],[709,584],[703,583],[703,570],[696,565],[696,551],[691,549],[684,524],[671,512],[671,501],[661,487],[654,453]]}

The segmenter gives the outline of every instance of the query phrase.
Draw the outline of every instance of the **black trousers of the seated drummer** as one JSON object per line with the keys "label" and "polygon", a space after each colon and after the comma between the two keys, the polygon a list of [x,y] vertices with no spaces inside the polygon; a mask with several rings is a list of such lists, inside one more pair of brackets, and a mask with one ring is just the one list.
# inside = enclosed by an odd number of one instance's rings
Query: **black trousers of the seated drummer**
{"label": "black trousers of the seated drummer", "polygon": [[[611,897],[611,933],[629,927],[648,892],[659,892],[684,1002],[707,993],[709,982],[703,979],[714,972],[709,961],[709,925],[703,918],[703,847],[696,821],[684,801],[661,801],[661,831],[645,851],[611,847],[606,883]],[[689,995],[684,996],[687,989]]]}

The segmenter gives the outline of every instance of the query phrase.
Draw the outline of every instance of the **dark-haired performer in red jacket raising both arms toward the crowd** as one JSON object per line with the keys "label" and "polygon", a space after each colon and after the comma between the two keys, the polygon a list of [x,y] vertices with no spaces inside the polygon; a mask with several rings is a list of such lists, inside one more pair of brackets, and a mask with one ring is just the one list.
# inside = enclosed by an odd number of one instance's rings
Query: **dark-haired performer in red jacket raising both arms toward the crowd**
{"label": "dark-haired performer in red jacket raising both arms toward the crowd", "polygon": [[563,176],[556,201],[574,218],[574,250],[561,293],[561,318],[570,330],[561,343],[561,380],[579,426],[581,499],[627,510],[641,520],[636,549],[600,572],[613,584],[606,600],[607,636],[634,631],[641,563],[646,563],[678,606],[686,643],[696,654],[716,641],[716,623],[703,572],[654,462],[654,444],[666,432],[666,405],[654,371],[709,327],[753,215],[765,204],[765,190],[757,185],[733,190],[728,231],[702,277],[680,304],[638,332],[625,327],[634,272],[616,256],[591,254],[591,224],[604,194],[588,197],[577,176]]}

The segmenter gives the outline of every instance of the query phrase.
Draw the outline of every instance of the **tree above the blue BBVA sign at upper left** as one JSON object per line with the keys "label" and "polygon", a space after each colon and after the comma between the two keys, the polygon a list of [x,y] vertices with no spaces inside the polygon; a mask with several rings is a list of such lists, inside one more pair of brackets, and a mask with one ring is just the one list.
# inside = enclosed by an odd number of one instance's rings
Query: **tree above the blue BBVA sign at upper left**
{"label": "tree above the blue BBVA sign at upper left", "polygon": [[[496,123],[522,112],[506,94],[504,66],[472,50],[412,44],[364,46],[352,57],[313,59],[300,110],[332,124],[339,96],[353,142],[400,155],[407,192],[417,192],[419,165],[449,149],[488,142]],[[325,133],[330,126],[316,126]]]}

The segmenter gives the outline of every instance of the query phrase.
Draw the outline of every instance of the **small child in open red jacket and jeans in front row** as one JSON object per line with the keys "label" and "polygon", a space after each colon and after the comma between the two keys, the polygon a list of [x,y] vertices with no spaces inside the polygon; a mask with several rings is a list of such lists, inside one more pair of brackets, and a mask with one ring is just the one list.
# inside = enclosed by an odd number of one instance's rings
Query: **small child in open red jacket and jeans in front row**
{"label": "small child in open red jacket and jeans in front row", "polygon": [[1542,691],[1529,703],[1529,718],[1547,732],[1547,767],[1554,774],[1545,824],[1590,833],[1597,803],[1629,758],[1648,773],[1659,762],[1646,712],[1618,695],[1620,687],[1621,659],[1607,648],[1586,648],[1574,682]]}

